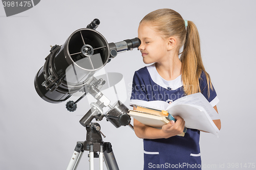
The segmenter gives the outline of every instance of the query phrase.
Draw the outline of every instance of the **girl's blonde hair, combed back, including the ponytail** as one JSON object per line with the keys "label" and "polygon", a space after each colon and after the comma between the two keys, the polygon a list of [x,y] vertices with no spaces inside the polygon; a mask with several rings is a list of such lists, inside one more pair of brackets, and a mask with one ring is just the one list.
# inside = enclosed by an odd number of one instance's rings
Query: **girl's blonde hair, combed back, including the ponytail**
{"label": "girl's blonde hair, combed back, including the ponytail", "polygon": [[180,56],[182,62],[182,81],[185,94],[201,92],[199,79],[204,71],[208,97],[212,89],[210,76],[205,71],[200,51],[200,39],[196,25],[192,21],[185,21],[181,15],[172,9],[159,9],[147,14],[141,21],[150,23],[156,31],[168,38],[176,36],[179,48],[183,45],[183,52]]}

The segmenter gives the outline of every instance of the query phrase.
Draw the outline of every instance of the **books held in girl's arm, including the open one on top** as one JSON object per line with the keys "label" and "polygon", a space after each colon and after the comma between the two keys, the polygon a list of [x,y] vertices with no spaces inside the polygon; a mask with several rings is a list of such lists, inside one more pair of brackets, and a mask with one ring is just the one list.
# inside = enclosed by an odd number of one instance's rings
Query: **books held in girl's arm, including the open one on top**
{"label": "books held in girl's arm, including the open one on top", "polygon": [[131,100],[131,105],[135,106],[136,110],[129,110],[128,114],[144,125],[162,128],[170,120],[175,121],[173,116],[181,116],[185,120],[185,129],[180,136],[184,136],[186,128],[218,136],[219,129],[212,120],[220,119],[220,116],[202,93],[184,96],[171,104],[164,101]]}

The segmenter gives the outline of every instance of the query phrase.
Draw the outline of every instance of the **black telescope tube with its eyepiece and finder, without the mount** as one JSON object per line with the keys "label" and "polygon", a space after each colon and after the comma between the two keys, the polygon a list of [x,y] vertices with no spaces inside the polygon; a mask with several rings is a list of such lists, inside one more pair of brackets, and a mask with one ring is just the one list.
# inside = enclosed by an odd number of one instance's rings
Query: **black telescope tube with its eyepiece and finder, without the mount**
{"label": "black telescope tube with its eyepiece and finder, without the mount", "polygon": [[[66,101],[73,93],[83,91],[84,80],[104,67],[118,52],[133,50],[140,45],[138,38],[108,43],[95,30],[98,25],[99,20],[94,19],[87,28],[73,32],[63,45],[51,48],[45,65],[39,69],[34,80],[36,92],[42,99],[50,103]],[[69,67],[79,68],[85,79],[68,83],[66,69]]]}

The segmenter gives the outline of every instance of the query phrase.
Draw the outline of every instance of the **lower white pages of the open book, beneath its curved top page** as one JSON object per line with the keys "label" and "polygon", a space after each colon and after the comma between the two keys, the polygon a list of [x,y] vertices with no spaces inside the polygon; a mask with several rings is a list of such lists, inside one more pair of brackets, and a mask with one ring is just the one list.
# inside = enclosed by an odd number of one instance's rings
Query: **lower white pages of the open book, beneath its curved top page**
{"label": "lower white pages of the open book, beneath its curved top page", "polygon": [[173,116],[181,116],[185,120],[186,128],[203,130],[219,136],[219,129],[214,122],[212,122],[203,107],[189,104],[177,104],[167,109],[167,111]]}

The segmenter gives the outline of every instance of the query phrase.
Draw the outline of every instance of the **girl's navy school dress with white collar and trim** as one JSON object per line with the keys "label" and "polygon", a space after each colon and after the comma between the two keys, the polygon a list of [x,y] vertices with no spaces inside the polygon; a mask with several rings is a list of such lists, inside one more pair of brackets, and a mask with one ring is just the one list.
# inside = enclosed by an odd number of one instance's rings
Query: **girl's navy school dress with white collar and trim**
{"label": "girl's navy school dress with white collar and trim", "polygon": [[[208,87],[204,72],[199,79],[200,89],[214,107],[219,99],[216,91]],[[184,96],[181,75],[166,81],[157,72],[155,64],[135,71],[131,100],[175,101]],[[187,129],[184,137],[173,136],[162,139],[143,139],[144,170],[146,169],[201,169],[199,147],[200,131]]]}

